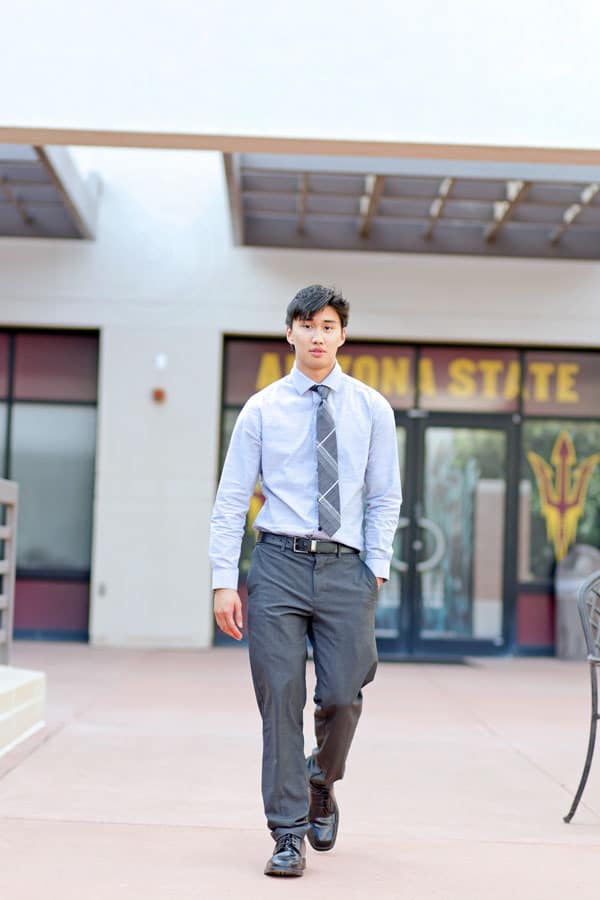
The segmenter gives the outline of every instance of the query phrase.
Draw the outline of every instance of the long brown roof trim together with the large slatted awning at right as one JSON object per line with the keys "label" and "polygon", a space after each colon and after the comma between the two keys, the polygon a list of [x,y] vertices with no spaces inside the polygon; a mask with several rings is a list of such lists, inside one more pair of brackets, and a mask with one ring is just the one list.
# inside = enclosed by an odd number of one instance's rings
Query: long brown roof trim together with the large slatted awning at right
{"label": "long brown roof trim together with the large slatted awning at right", "polygon": [[0,127],[0,141],[217,150],[253,246],[600,259],[600,150]]}

